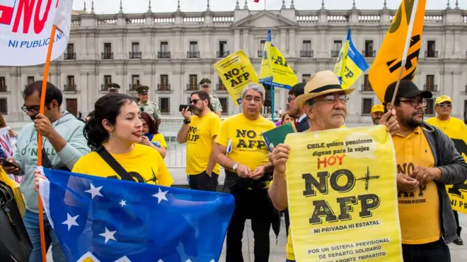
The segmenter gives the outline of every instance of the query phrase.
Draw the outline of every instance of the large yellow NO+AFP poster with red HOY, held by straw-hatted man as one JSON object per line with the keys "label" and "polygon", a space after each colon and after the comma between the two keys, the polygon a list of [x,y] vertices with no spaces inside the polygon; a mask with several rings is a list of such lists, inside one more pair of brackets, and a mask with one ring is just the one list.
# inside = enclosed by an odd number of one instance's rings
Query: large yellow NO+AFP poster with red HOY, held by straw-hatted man
{"label": "large yellow NO+AFP poster with red HOY, held by straw-hatted man", "polygon": [[296,261],[402,261],[386,127],[291,133],[285,143]]}

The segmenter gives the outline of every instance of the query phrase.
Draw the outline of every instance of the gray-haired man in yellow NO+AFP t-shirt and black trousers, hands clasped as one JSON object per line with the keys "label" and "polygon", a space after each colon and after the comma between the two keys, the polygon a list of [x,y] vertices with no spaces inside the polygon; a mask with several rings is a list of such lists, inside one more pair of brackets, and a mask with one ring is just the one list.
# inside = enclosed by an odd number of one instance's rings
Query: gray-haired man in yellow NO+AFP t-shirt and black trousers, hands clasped
{"label": "gray-haired man in yellow NO+AFP t-shirt and black trousers, hands clasped", "polygon": [[261,116],[265,100],[263,86],[253,83],[243,88],[243,112],[224,120],[216,138],[217,162],[225,168],[225,191],[235,198],[235,210],[227,232],[226,262],[243,262],[243,228],[247,219],[255,236],[255,261],[267,262],[270,227],[274,212],[267,188],[272,180],[272,164],[263,133],[275,124]]}

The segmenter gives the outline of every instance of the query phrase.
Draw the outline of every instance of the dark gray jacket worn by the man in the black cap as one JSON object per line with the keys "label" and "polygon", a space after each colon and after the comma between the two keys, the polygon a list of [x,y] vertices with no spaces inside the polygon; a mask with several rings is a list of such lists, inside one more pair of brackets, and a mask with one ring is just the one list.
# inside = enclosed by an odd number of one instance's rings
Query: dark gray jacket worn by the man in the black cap
{"label": "dark gray jacket worn by the man in the black cap", "polygon": [[454,142],[443,131],[425,122],[422,124],[422,129],[433,152],[434,167],[438,167],[442,172],[441,179],[436,181],[439,195],[439,218],[442,237],[446,242],[451,243],[457,238],[457,226],[445,185],[461,184],[466,181],[467,164],[454,147]]}

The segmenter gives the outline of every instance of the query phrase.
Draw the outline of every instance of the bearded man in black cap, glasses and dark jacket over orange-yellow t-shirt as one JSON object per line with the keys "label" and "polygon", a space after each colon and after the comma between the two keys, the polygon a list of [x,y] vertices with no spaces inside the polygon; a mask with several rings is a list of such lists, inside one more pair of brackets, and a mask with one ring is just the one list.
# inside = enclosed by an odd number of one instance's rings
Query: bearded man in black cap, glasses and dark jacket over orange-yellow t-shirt
{"label": "bearded man in black cap, glasses and dark jacket over orange-yellow t-shirt", "polygon": [[[390,108],[396,83],[384,95]],[[446,184],[467,179],[467,164],[454,142],[442,131],[423,122],[425,99],[410,80],[400,81],[393,108],[400,131],[393,136],[398,168],[398,210],[404,261],[451,261],[447,243],[454,241],[456,222]]]}

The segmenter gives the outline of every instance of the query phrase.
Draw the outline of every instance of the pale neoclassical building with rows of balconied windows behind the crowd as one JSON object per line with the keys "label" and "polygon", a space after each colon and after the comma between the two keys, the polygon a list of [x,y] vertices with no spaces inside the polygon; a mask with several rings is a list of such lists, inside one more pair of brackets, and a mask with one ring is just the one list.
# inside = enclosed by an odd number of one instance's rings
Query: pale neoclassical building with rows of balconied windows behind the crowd
{"label": "pale neoclassical building with rows of balconied windows behind the crowd", "polygon": [[[250,11],[248,4],[233,11],[98,15],[94,8],[74,11],[69,47],[50,66],[50,81],[64,93],[63,108],[87,114],[105,83],[118,83],[120,93],[136,95],[138,85],[148,85],[150,100],[165,117],[179,117],[178,105],[186,104],[201,78],[213,82],[224,114],[239,112],[219,81],[213,64],[243,49],[259,73],[267,29],[299,81],[311,74],[333,69],[347,28],[355,47],[371,65],[396,10],[296,10],[292,4],[280,10]],[[363,6],[362,6],[363,7]],[[427,10],[415,83],[435,96],[454,100],[453,114],[464,119],[467,112],[467,11],[458,4],[445,10]],[[21,90],[42,78],[42,66],[0,67],[0,112],[6,121],[23,122]],[[365,72],[365,74],[367,74]],[[347,124],[370,123],[371,106],[378,102],[367,75],[359,78],[350,97]],[[287,90],[275,90],[275,110],[284,110]],[[434,114],[433,101],[427,116]]]}

